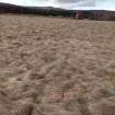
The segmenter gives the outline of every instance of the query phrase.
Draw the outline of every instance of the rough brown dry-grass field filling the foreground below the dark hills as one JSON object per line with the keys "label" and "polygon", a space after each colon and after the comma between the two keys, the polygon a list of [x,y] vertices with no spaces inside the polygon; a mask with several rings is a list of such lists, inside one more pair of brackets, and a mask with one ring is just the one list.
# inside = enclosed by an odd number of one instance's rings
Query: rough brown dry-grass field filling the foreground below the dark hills
{"label": "rough brown dry-grass field filling the foreground below the dark hills", "polygon": [[115,115],[115,22],[0,15],[0,115]]}

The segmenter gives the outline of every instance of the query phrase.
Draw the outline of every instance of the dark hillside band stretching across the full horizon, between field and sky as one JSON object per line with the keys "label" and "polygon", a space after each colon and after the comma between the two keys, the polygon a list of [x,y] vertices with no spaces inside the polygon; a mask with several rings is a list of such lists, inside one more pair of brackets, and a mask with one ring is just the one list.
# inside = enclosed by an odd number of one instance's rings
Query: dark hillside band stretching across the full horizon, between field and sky
{"label": "dark hillside band stretching across the full horizon, between field and sky", "polygon": [[[102,21],[115,21],[115,11],[103,10],[65,10],[53,7],[22,7],[10,3],[0,2],[0,13],[18,13],[18,14],[38,14],[38,15],[53,15],[66,16],[73,19],[89,19]],[[77,18],[77,14],[79,15]]]}

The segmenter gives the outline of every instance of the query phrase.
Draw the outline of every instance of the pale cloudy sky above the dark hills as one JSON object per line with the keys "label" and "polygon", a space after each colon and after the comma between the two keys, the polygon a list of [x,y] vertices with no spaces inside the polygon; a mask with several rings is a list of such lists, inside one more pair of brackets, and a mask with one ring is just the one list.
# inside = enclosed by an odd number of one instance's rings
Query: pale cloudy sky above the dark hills
{"label": "pale cloudy sky above the dark hills", "polygon": [[114,10],[115,0],[0,0],[20,5],[58,7],[64,9]]}

